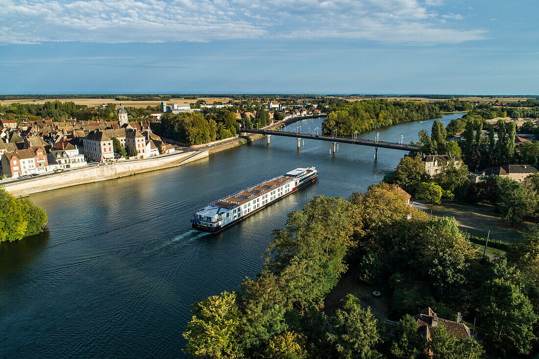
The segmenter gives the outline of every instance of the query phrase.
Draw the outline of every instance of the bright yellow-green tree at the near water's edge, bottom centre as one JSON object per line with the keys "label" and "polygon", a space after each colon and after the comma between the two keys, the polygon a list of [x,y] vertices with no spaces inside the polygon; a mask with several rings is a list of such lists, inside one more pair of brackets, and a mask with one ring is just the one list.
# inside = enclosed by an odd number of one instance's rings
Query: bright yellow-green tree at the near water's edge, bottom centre
{"label": "bright yellow-green tree at the near water's edge, bottom centre", "polygon": [[195,313],[187,323],[183,336],[188,341],[185,350],[192,356],[208,358],[238,358],[240,312],[236,294],[223,292],[195,303]]}

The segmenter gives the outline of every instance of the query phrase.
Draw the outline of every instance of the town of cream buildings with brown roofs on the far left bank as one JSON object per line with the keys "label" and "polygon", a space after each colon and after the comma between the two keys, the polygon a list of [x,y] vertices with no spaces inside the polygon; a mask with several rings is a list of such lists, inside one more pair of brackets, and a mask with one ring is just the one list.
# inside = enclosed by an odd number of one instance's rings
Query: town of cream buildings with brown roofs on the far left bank
{"label": "town of cream buildings with brown roofs on the far left bank", "polygon": [[[195,113],[236,107],[234,116],[238,125],[247,122],[252,126],[256,118],[254,112],[239,112],[237,103],[208,105],[197,102],[194,108],[192,107],[189,103],[163,101],[160,105],[161,111],[146,111],[137,118],[139,121],[133,120],[133,115],[128,114],[123,103],[120,103],[117,110],[115,105],[110,103],[92,108],[101,112],[112,110],[116,114],[116,119],[79,120],[52,117],[26,119],[24,116],[17,116],[17,119],[2,118],[0,119],[1,173],[5,179],[23,179],[77,169],[92,163],[142,160],[172,154],[182,150],[187,144],[165,139],[154,133],[164,114]],[[316,107],[316,104],[305,103],[291,104],[285,109],[280,102],[268,101],[266,103],[270,119],[268,124],[273,123],[276,112],[279,112],[279,119],[284,120],[294,116],[320,114],[320,109]],[[234,132],[229,138],[236,136]]]}

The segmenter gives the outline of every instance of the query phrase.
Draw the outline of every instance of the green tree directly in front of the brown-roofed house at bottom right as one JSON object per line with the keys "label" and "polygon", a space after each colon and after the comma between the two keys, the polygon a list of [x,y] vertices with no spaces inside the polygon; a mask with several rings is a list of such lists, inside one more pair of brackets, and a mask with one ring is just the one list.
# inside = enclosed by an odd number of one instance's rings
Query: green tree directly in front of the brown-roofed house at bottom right
{"label": "green tree directly in front of the brown-roofed house at bottom right", "polygon": [[458,339],[438,323],[429,342],[433,359],[479,359],[484,350],[473,338]]}

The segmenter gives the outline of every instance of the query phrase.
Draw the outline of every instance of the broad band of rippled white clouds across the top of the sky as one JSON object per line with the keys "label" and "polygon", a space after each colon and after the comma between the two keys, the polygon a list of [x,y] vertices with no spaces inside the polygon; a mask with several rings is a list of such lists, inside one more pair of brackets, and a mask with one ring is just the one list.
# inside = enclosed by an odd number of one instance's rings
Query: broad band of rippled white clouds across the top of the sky
{"label": "broad band of rippled white clouds across the top of the sky", "polygon": [[0,44],[208,42],[354,38],[460,43],[485,31],[445,29],[438,0],[2,0]]}

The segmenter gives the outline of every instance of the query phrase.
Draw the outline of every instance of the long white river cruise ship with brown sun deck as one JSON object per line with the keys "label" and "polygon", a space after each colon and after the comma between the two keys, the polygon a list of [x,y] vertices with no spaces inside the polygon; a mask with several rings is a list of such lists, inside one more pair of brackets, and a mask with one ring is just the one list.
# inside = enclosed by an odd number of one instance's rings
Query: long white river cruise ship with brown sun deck
{"label": "long white river cruise ship with brown sun deck", "polygon": [[314,167],[296,168],[285,175],[219,199],[195,213],[194,218],[191,219],[192,227],[210,233],[222,231],[265,206],[316,181],[317,176],[318,171]]}

